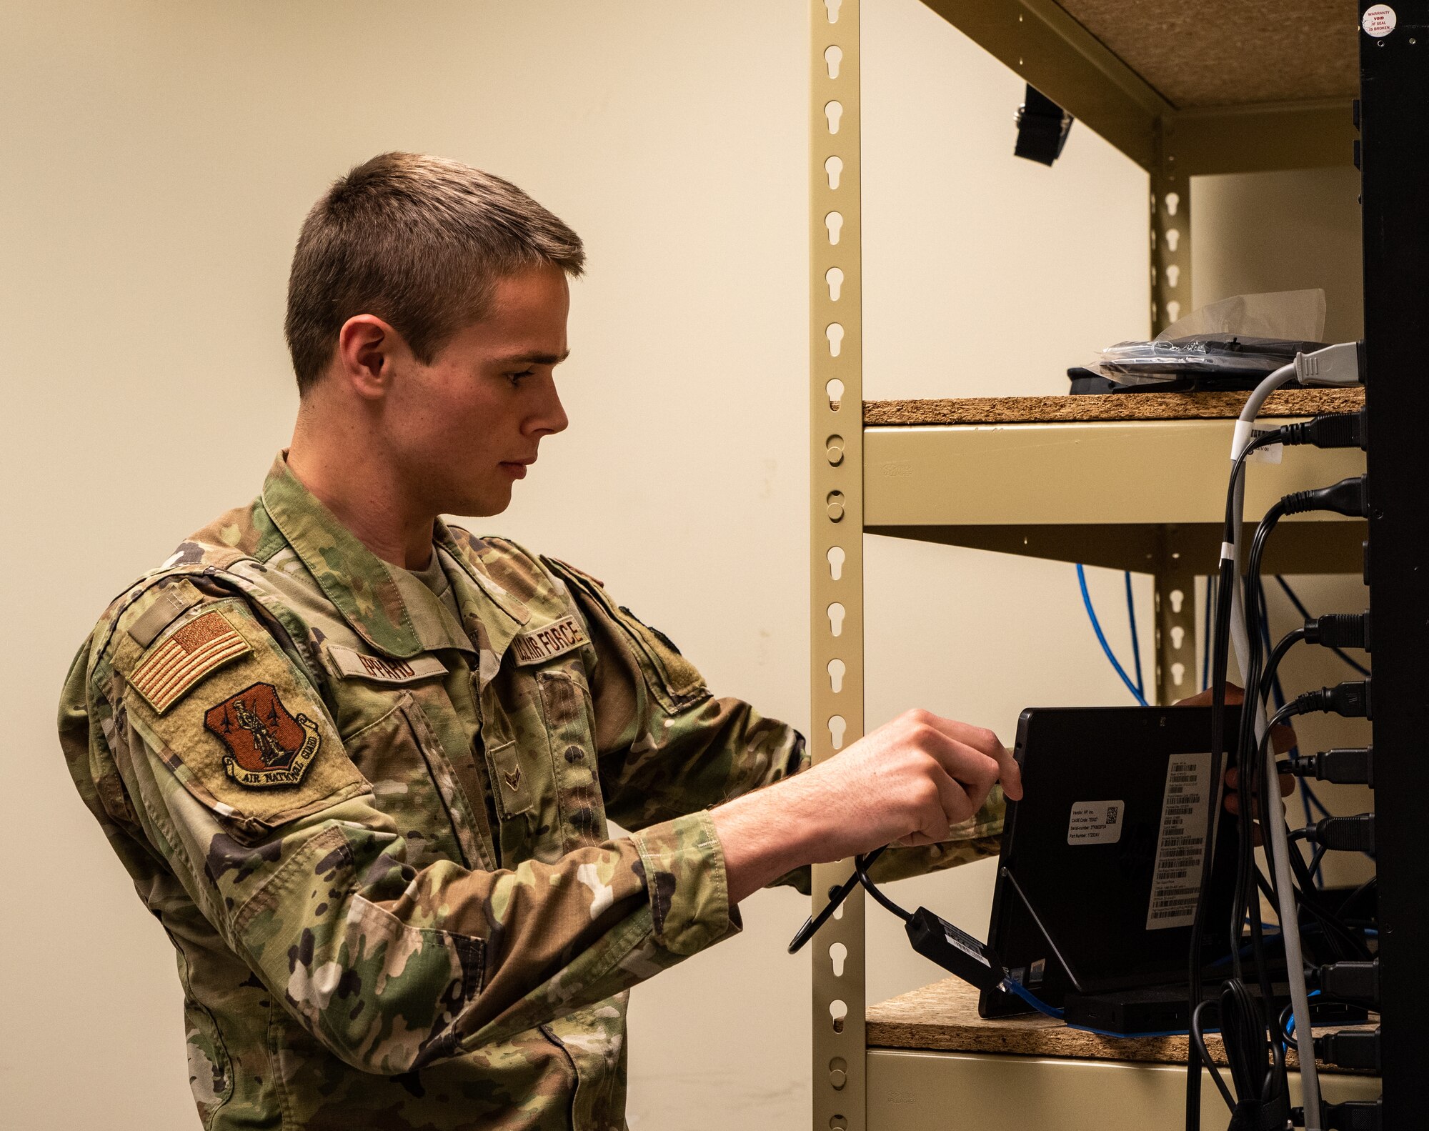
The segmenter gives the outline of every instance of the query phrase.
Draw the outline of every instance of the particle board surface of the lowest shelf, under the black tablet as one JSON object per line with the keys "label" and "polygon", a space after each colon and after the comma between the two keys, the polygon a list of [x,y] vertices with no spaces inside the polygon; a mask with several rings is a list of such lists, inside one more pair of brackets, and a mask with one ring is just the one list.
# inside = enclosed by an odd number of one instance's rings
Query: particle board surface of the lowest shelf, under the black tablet
{"label": "particle board surface of the lowest shelf, under the black tablet", "polygon": [[[1072,1060],[1185,1064],[1186,1037],[1097,1037],[1063,1025],[1050,1017],[1027,1014],[985,1021],[977,1015],[977,991],[959,978],[946,978],[922,990],[870,1005],[867,1044],[879,1048],[933,1050],[940,1052],[1002,1052],[1017,1057],[1069,1057]],[[1226,1064],[1218,1034],[1208,1034],[1206,1048],[1218,1065]],[[1292,1070],[1299,1060],[1292,1048]],[[1320,1065],[1322,1071],[1340,1068]]]}

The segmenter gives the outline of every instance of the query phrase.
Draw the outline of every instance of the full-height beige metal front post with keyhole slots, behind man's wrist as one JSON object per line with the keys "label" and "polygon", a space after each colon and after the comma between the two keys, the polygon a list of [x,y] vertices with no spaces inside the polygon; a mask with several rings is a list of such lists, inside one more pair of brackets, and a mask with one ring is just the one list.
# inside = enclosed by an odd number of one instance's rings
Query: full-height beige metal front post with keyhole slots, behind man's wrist
{"label": "full-height beige metal front post with keyhole slots, behind man's wrist", "polygon": [[[813,760],[863,734],[859,0],[810,0],[810,600]],[[852,861],[813,867],[813,911]],[[863,893],[815,935],[813,1127],[863,1131]]]}

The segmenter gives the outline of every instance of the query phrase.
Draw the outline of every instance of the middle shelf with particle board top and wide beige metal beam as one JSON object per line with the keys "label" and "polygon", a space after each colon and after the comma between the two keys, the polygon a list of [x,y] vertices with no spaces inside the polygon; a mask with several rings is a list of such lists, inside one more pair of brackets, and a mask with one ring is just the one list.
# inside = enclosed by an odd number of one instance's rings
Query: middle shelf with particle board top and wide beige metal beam
{"label": "middle shelf with particle board top and wide beige metal beam", "polygon": [[[1243,403],[1232,393],[870,401],[865,531],[1152,573],[1169,554],[1212,573]],[[1292,390],[1268,414],[1362,403],[1363,390]],[[1363,470],[1355,450],[1253,463],[1246,514]],[[1265,568],[1358,573],[1363,538],[1360,520],[1298,516],[1270,540]]]}

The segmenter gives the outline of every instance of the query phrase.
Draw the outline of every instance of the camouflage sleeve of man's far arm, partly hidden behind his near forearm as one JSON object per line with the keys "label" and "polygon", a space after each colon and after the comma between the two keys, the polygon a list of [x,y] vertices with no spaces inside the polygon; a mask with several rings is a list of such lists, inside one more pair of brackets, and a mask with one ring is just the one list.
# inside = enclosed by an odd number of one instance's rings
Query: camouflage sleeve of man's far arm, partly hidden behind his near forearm
{"label": "camouflage sleeve of man's far arm, partly hidden behind his near forearm", "polygon": [[617,605],[593,577],[544,558],[586,623],[606,813],[644,828],[710,808],[809,767],[803,735],[747,703],[714,698],[656,628]]}

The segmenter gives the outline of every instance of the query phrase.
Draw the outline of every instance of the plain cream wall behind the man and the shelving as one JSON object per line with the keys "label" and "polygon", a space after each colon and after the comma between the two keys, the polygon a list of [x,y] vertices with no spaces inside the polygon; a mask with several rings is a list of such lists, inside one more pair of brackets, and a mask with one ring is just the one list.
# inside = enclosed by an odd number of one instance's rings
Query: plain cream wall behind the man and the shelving
{"label": "plain cream wall behind the man and the shelving", "polygon": [[[193,1122],[170,951],[73,794],[53,703],[114,591],[284,441],[287,257],[350,164],[466,160],[586,237],[572,430],[482,526],[590,568],[722,693],[806,724],[805,3],[7,16],[0,1094],[14,1127],[170,1131]],[[869,396],[1059,391],[1146,328],[1145,177],[1082,127],[1052,170],[1013,160],[1012,74],[917,0],[865,20]],[[867,568],[870,720],[925,704],[1010,740],[1032,703],[1123,701],[1069,566],[873,538]],[[1117,585],[1093,575],[1120,641]],[[906,898],[977,930],[989,881]],[[803,915],[763,893],[742,937],[636,992],[636,1131],[803,1124],[809,964],[783,950]],[[873,998],[936,975],[887,917],[870,945]]]}

